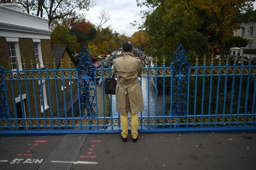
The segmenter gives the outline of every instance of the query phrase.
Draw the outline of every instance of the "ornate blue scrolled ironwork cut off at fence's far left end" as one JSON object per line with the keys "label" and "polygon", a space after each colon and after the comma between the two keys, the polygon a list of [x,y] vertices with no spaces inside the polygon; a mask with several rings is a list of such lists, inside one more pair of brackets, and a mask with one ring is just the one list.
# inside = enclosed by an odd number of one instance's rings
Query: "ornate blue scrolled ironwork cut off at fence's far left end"
{"label": "ornate blue scrolled ironwork cut off at fence's far left end", "polygon": [[4,67],[0,64],[0,118],[8,118],[7,115],[7,105],[5,104],[5,88],[4,88]]}

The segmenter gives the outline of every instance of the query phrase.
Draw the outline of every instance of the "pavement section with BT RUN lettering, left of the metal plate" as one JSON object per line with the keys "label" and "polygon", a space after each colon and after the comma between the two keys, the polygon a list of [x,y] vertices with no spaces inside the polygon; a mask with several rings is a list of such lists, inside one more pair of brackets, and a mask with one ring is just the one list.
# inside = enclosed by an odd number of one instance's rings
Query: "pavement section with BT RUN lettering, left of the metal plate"
{"label": "pavement section with BT RUN lettering, left of the metal plate", "polygon": [[0,169],[37,169],[64,136],[0,138]]}

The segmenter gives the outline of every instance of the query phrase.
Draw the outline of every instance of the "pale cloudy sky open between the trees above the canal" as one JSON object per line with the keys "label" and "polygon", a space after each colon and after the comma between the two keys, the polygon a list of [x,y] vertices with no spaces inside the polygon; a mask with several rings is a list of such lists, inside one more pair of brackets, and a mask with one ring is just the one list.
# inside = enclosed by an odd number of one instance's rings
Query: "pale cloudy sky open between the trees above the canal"
{"label": "pale cloudy sky open between the trees above the canal", "polygon": [[[146,7],[137,7],[136,0],[93,0],[94,7],[86,12],[86,18],[92,23],[99,22],[97,16],[100,11],[108,11],[110,20],[104,26],[110,25],[116,32],[131,37],[135,31],[138,31],[138,26],[132,26],[130,23],[136,20],[141,22],[138,15],[141,10],[146,10]],[[253,2],[254,10],[256,2]],[[103,26],[103,27],[104,27]]]}

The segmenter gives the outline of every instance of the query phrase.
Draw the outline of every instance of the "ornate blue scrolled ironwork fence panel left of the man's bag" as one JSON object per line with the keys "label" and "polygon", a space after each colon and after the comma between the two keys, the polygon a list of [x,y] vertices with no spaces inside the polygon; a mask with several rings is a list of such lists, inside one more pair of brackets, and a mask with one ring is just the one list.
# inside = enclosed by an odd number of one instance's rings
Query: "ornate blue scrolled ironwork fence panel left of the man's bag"
{"label": "ornate blue scrolled ironwork fence panel left of the man's bag", "polygon": [[[93,110],[93,107],[96,107],[94,103],[95,98],[95,89],[93,76],[95,66],[92,64],[92,54],[84,46],[81,53],[78,56],[79,64],[76,66],[78,70],[79,77],[79,91],[80,91],[80,101],[81,101],[81,110],[83,117],[95,117],[96,112]],[[86,112],[85,113],[85,109]]]}

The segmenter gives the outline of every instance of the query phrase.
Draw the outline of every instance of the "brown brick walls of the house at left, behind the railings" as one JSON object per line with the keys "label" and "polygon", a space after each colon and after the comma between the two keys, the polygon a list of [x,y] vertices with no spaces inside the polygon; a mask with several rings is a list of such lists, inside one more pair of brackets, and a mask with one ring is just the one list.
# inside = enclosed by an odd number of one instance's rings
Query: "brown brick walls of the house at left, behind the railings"
{"label": "brown brick walls of the house at left, behind the railings", "polygon": [[[25,60],[26,68],[28,70],[31,69],[31,59],[33,64],[33,68],[36,69],[36,57],[35,57],[35,50],[34,50],[34,42],[32,39],[28,38],[19,38],[19,49],[20,49],[20,57],[21,57],[21,62],[23,63]],[[42,51],[42,59],[41,63],[43,63],[44,66],[46,66],[46,58],[48,59],[48,67],[49,69],[53,68],[52,64],[52,56],[51,56],[51,45],[50,45],[50,40],[41,40],[41,51]],[[68,58],[69,55],[67,51],[65,52],[63,56],[63,66],[64,69],[68,69]],[[72,62],[72,60],[70,60]],[[0,37],[0,64],[3,66],[6,70],[8,70],[9,66],[9,53],[8,53],[8,45],[5,37]],[[58,63],[56,63],[56,66]],[[19,65],[19,68],[22,68],[24,70],[24,65]],[[71,63],[71,68],[75,68],[75,64],[72,62]],[[44,70],[45,68],[42,68]],[[59,68],[57,68],[59,69]],[[26,83],[27,82],[27,83]],[[66,98],[70,96],[70,85],[68,84],[69,80],[65,80],[65,86],[67,87],[65,89],[66,92]],[[74,91],[77,87],[77,83],[75,80],[73,80],[72,84],[72,90]],[[63,91],[61,91],[61,80],[56,81],[57,85],[57,93],[58,93],[58,100],[59,103],[63,101]],[[13,85],[13,90],[12,90],[12,85]],[[35,92],[34,92],[34,87],[35,87]],[[45,80],[45,88],[46,88],[46,96],[47,96],[47,105],[52,106],[52,114],[57,112],[57,98],[56,98],[56,90],[55,90],[55,80],[49,80],[49,85],[48,85],[48,80]],[[13,96],[14,99],[19,97],[19,94],[25,94],[26,93],[26,99],[23,100],[25,101],[25,112],[26,112],[26,117],[29,117],[31,114],[31,117],[36,117],[36,108],[38,111],[38,117],[44,117],[44,114],[41,113],[41,104],[40,104],[40,97],[39,97],[39,84],[38,80],[22,80],[20,81],[20,88],[19,88],[19,83],[18,81],[6,81],[6,89],[7,89],[7,101],[9,104],[10,111],[12,114],[15,116],[15,111],[14,111],[14,105],[15,100],[13,101]],[[48,89],[50,89],[50,94]],[[49,100],[49,95],[51,95],[51,103]],[[30,101],[30,105],[28,105],[28,100]],[[35,103],[36,101],[36,103]],[[30,114],[29,114],[29,109],[30,108]],[[68,110],[68,108],[67,108]],[[48,108],[45,111],[45,117],[50,117],[50,111],[51,109]]]}

